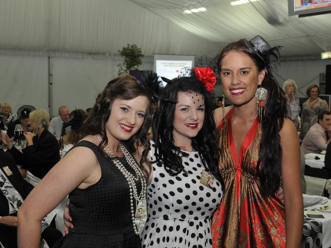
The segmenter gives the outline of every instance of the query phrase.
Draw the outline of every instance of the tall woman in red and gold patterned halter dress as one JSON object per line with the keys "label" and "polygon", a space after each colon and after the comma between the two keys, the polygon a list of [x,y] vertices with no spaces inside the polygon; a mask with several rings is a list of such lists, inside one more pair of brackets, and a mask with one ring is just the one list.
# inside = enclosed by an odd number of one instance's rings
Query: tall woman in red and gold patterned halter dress
{"label": "tall woman in red and gold patterned halter dress", "polygon": [[[227,45],[218,60],[223,91],[233,106],[214,112],[225,189],[213,217],[213,247],[300,244],[299,141],[270,57],[279,61],[279,48],[256,36]],[[281,184],[284,203],[275,195]]]}

